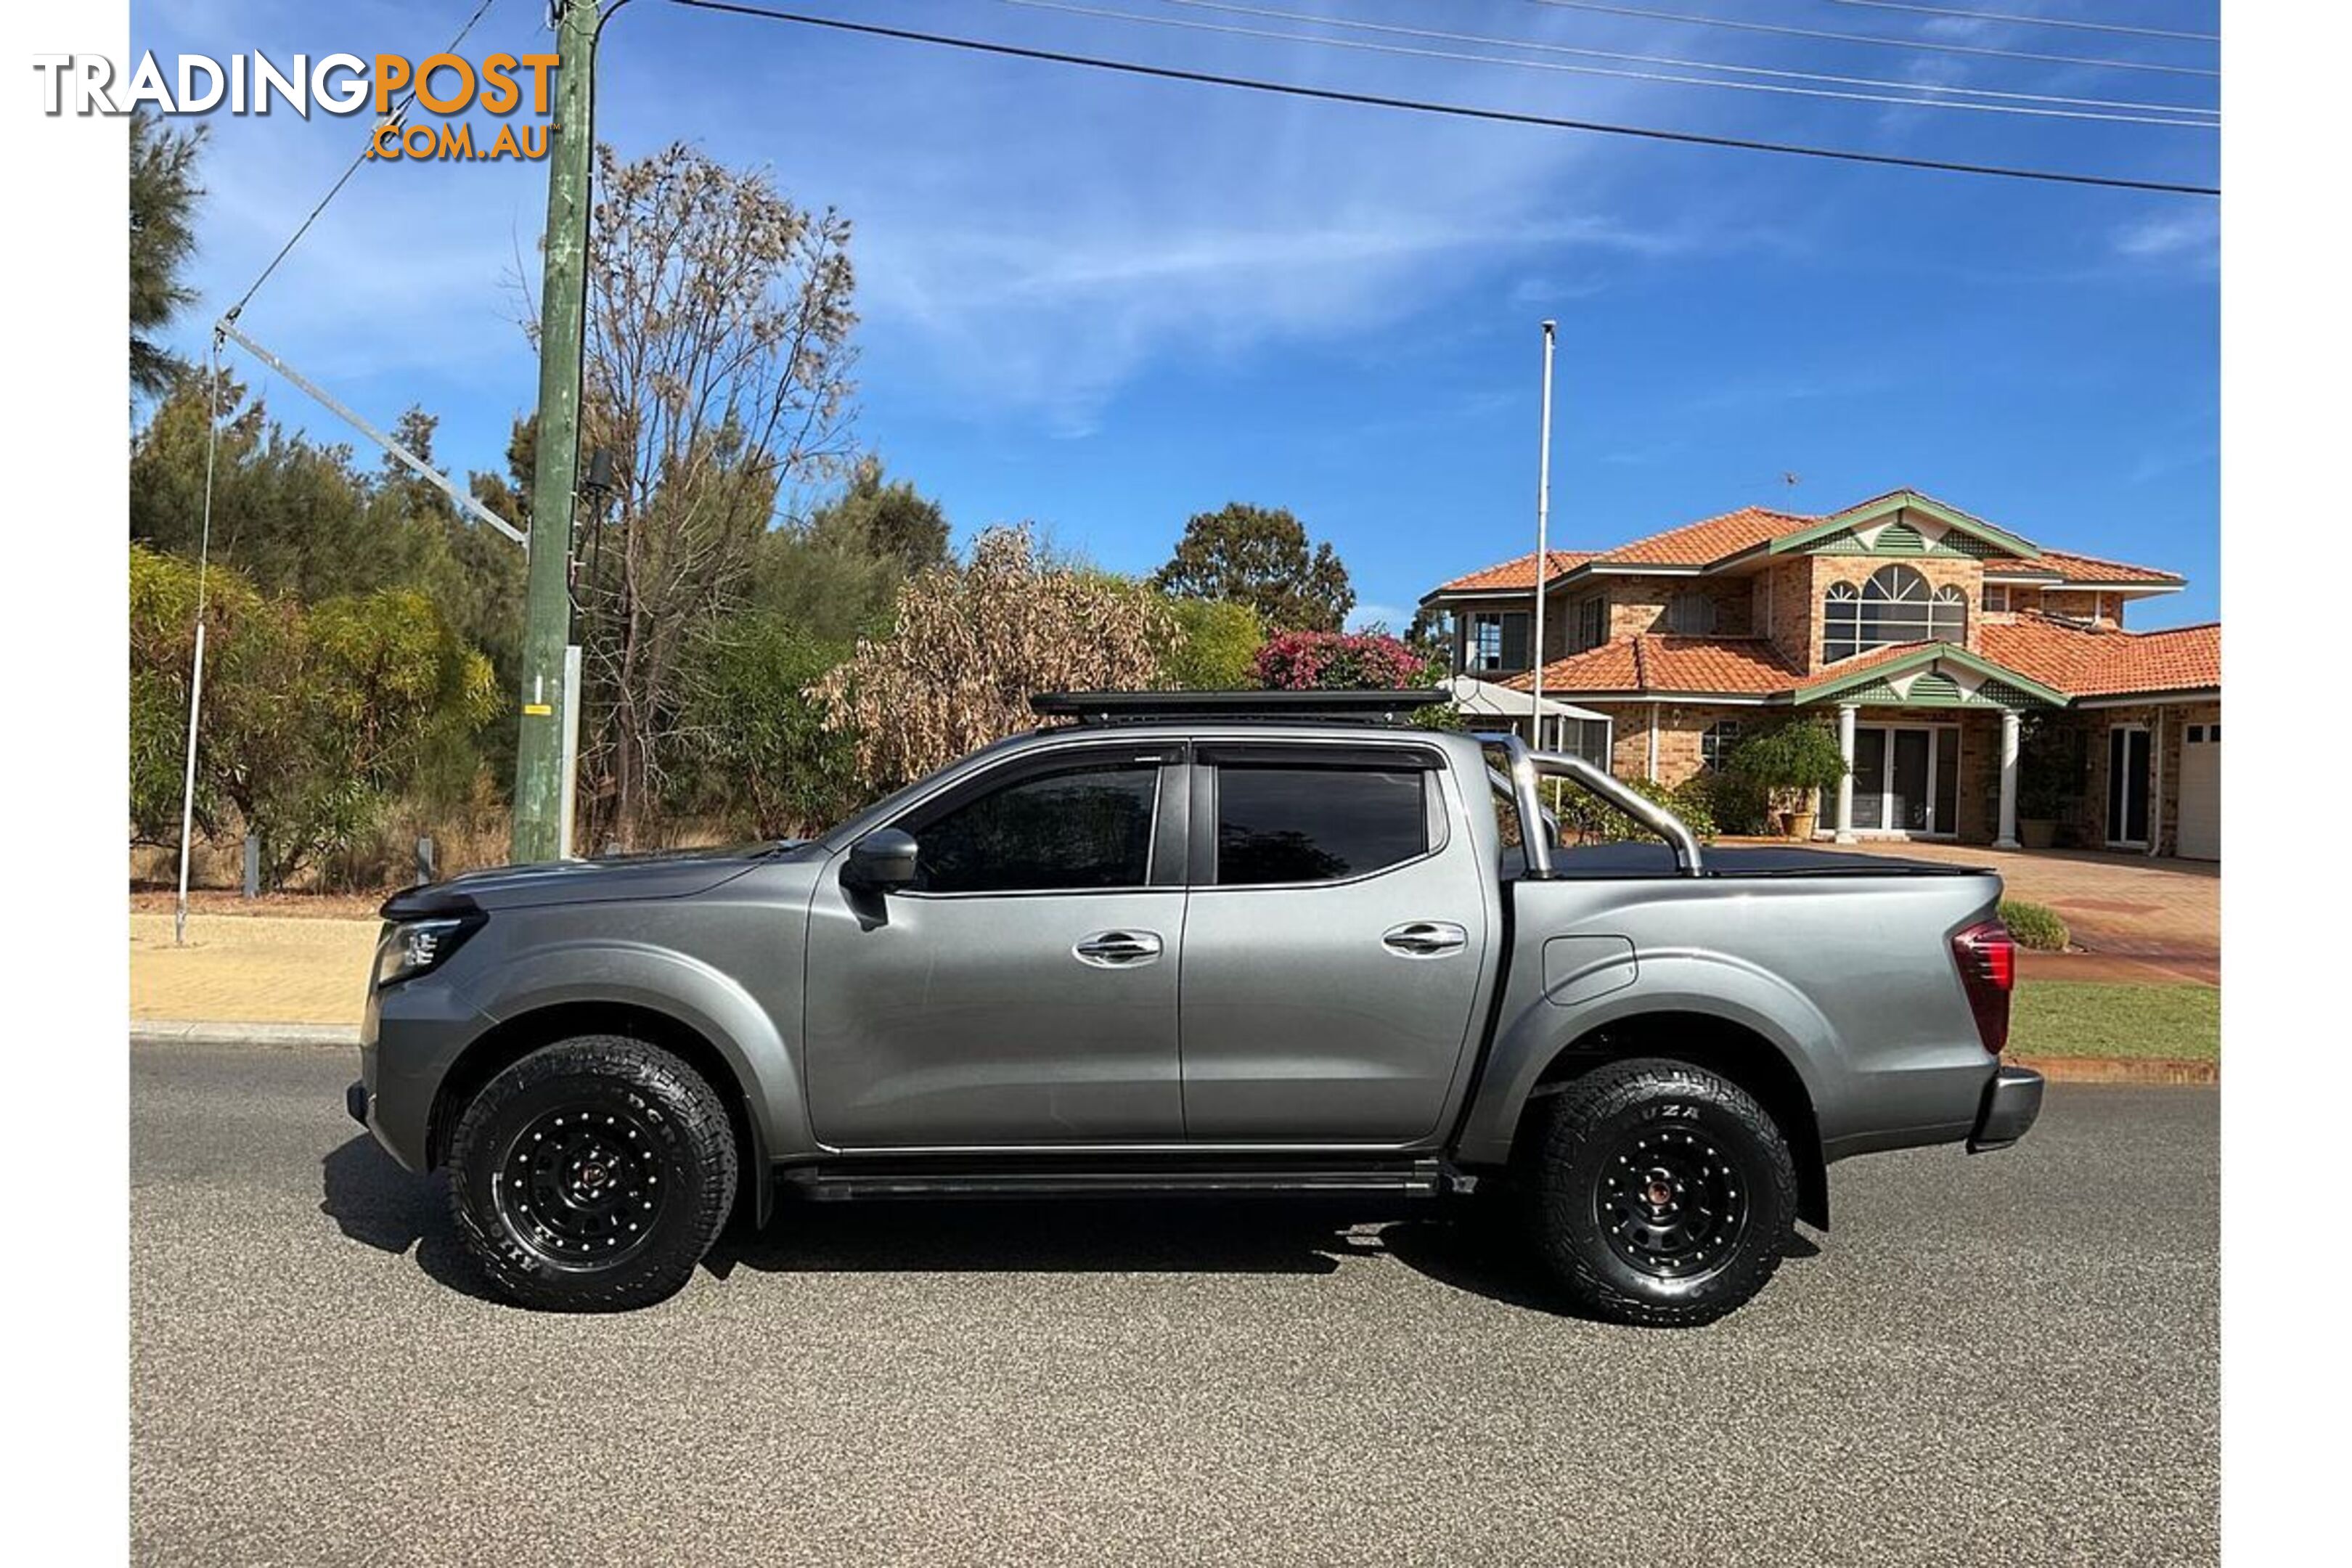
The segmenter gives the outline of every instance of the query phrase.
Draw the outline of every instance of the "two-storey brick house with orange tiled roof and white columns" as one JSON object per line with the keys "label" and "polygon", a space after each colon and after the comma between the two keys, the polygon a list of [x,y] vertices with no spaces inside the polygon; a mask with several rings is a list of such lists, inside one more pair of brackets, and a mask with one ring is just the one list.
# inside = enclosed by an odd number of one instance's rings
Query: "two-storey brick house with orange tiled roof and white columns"
{"label": "two-storey brick house with orange tiled roof and white columns", "polygon": [[[1820,832],[2060,842],[2220,858],[2220,625],[2124,628],[2183,578],[2039,545],[1917,491],[1804,517],[1740,508],[1543,569],[1543,741],[1682,783],[1773,715],[1835,722],[1849,776]],[[1430,590],[1454,670],[1534,684],[1534,552]],[[1522,731],[1526,724],[1522,724]],[[2044,762],[2046,759],[2046,762]]]}

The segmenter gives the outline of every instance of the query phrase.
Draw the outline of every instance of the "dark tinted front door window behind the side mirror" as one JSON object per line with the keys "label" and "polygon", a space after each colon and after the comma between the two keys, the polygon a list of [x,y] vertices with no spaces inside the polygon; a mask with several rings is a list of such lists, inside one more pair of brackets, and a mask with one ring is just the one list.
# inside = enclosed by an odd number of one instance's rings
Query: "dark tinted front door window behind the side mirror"
{"label": "dark tinted front door window behind the side mirror", "polygon": [[927,893],[1143,886],[1160,766],[1115,762],[1040,773],[957,806],[915,835]]}

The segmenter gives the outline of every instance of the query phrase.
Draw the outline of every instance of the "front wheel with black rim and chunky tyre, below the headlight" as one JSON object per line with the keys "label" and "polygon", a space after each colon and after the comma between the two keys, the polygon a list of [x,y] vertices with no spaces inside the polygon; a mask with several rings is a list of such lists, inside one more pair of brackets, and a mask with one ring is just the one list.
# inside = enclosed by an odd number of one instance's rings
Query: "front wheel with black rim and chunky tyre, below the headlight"
{"label": "front wheel with black rim and chunky tyre, below the headlight", "polygon": [[727,1107],[659,1046],[581,1034],[494,1077],[449,1138],[449,1206],[524,1307],[623,1312],[694,1276],[734,1211]]}

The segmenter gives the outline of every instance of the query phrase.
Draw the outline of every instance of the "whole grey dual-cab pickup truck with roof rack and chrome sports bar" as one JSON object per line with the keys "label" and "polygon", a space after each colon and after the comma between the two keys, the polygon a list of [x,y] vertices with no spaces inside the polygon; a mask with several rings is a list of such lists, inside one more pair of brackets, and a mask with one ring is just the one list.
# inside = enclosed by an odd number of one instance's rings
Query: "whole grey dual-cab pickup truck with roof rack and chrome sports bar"
{"label": "whole grey dual-cab pickup truck with roof rack and chrome sports bar", "polygon": [[[783,1197],[1362,1192],[1632,1324],[1755,1295],[1837,1159],[2032,1126],[1999,877],[1705,849],[1430,701],[1061,693],[818,839],[400,893],[350,1114],[539,1307]],[[1658,842],[1559,849],[1545,778]]]}

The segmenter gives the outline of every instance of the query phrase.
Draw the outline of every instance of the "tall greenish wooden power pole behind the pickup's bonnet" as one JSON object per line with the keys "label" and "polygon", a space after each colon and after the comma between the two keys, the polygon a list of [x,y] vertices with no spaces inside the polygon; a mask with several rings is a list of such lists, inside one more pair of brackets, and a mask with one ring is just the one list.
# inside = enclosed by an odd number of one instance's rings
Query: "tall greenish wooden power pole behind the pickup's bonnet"
{"label": "tall greenish wooden power pole behind the pickup's bonnet", "polygon": [[581,355],[588,327],[588,169],[595,158],[595,0],[555,2],[555,122],[548,127],[548,259],[539,289],[539,456],[522,625],[522,733],[508,858],[564,851],[564,644],[572,642],[572,498],[579,489]]}

